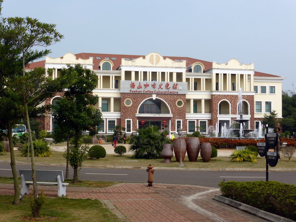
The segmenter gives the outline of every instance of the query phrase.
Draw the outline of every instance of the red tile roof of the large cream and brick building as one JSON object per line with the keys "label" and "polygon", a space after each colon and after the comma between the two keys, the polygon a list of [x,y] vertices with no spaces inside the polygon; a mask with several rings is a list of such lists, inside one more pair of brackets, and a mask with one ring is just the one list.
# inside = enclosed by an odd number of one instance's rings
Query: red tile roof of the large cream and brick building
{"label": "red tile roof of the large cream and brick building", "polygon": [[[84,53],[84,52],[75,54],[75,56],[77,59],[78,58],[88,59],[89,57],[93,57],[93,63],[94,63],[93,69],[94,70],[99,70],[98,66],[99,66],[100,62],[105,58],[109,58],[109,60],[113,62],[114,66],[112,67],[112,70],[116,70],[121,65],[121,59],[128,58],[128,59],[132,60],[132,59],[137,59],[139,57],[145,58],[145,56],[143,56],[143,55],[121,55],[121,54],[102,54],[102,53]],[[100,59],[96,59],[98,57]],[[111,58],[116,58],[116,60],[113,60]],[[204,70],[212,68],[212,62],[207,62],[207,61],[200,60],[200,59],[194,59],[194,58],[190,58],[190,57],[178,57],[178,56],[164,56],[163,58],[164,59],[169,58],[172,60],[177,59],[179,61],[186,60],[186,67],[188,67],[189,65],[191,65],[195,62],[200,62],[205,66]],[[33,63],[28,64],[28,67],[26,67],[26,69],[34,69],[36,67],[44,67],[44,63],[45,63],[45,60],[33,62]],[[270,75],[267,73],[260,73],[260,72],[256,72],[256,71],[255,71],[254,76],[280,77],[278,75]]]}

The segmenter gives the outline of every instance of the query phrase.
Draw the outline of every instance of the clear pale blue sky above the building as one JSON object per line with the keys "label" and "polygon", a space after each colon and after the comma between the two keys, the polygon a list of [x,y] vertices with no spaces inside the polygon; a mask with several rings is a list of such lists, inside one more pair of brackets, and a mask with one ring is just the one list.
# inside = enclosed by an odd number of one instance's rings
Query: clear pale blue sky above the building
{"label": "clear pale blue sky above the building", "polygon": [[[296,0],[4,0],[2,17],[56,24],[49,57],[106,53],[254,63],[296,91]],[[41,50],[41,49],[40,49]],[[45,59],[45,58],[44,58]]]}

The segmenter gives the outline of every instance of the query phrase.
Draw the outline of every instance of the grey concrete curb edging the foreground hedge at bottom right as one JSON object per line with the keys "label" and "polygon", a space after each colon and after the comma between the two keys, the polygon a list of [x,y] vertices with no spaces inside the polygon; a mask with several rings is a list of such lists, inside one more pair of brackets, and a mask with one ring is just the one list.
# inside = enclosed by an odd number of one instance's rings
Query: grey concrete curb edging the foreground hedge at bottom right
{"label": "grey concrete curb edging the foreground hedge at bottom right", "polygon": [[271,221],[271,222],[295,222],[295,221],[292,221],[290,219],[278,216],[276,214],[268,213],[268,212],[266,212],[264,210],[259,210],[258,208],[249,206],[247,204],[238,202],[236,200],[232,200],[232,199],[229,199],[227,197],[223,197],[221,195],[215,195],[213,197],[213,200],[224,203],[224,204],[229,205],[231,207],[235,207],[235,208],[237,208],[239,210],[250,213],[252,215],[255,215],[255,216],[257,216],[259,218],[262,218],[264,220],[267,220],[267,221]]}

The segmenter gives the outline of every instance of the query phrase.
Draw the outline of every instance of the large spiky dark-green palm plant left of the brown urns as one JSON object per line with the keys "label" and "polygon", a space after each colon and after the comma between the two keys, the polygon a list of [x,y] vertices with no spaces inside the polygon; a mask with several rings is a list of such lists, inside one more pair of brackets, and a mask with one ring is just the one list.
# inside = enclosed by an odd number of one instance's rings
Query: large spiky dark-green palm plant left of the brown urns
{"label": "large spiky dark-green palm plant left of the brown urns", "polygon": [[165,134],[169,132],[158,131],[158,126],[147,124],[145,127],[137,129],[136,134],[131,138],[129,152],[134,158],[158,159],[161,158],[163,144],[171,143]]}

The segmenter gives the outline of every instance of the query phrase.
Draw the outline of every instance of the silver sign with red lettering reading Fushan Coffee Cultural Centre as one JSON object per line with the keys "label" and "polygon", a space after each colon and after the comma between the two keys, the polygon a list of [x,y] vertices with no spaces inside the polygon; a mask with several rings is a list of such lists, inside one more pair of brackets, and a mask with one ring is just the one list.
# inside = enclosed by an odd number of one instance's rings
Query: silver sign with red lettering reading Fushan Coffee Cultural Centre
{"label": "silver sign with red lettering reading Fushan Coffee Cultural Centre", "polygon": [[120,81],[121,93],[187,94],[187,83],[156,81]]}

